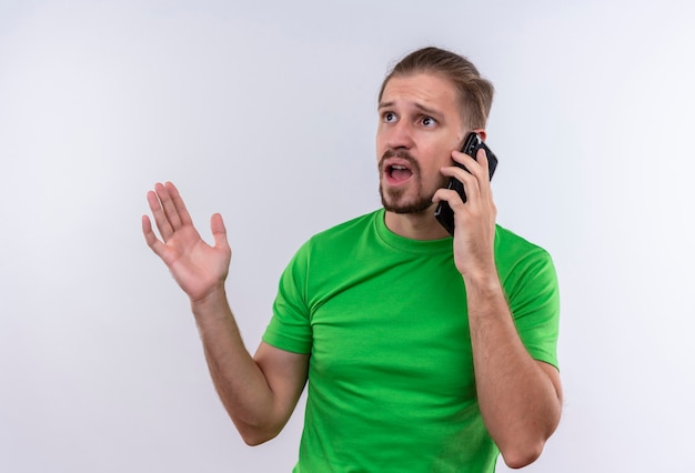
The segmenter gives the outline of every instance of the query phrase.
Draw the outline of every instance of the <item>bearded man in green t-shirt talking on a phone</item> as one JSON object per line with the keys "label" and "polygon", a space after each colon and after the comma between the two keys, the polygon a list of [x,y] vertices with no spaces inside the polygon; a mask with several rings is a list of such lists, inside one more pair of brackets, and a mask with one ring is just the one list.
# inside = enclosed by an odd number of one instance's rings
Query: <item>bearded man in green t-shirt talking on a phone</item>
{"label": "bearded man in green t-shirt talking on a phone", "polygon": [[[376,132],[383,209],[299,250],[253,356],[224,292],[222,218],[210,246],[173,184],[148,193],[162,241],[143,217],[145,240],[191,300],[246,443],[278,435],[308,383],[295,472],[477,473],[500,452],[512,467],[541,454],[562,406],[555,271],[496,225],[485,152],[457,151],[471,131],[485,138],[492,93],[471,62],[436,48],[391,71]],[[434,218],[440,201],[454,210],[453,239]]]}

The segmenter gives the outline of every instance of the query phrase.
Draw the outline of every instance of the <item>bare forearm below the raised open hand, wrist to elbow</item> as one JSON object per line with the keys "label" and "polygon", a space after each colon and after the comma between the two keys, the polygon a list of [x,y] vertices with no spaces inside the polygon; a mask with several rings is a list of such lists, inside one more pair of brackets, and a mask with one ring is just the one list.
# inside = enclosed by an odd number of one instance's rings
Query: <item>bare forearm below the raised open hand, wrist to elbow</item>
{"label": "bare forearm below the raised open hand, wrist to elbow", "polygon": [[284,421],[278,420],[273,392],[244,346],[224,290],[191,308],[212,381],[240,434],[250,444],[275,436]]}

